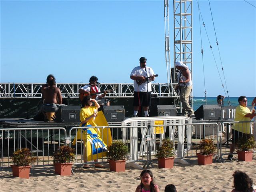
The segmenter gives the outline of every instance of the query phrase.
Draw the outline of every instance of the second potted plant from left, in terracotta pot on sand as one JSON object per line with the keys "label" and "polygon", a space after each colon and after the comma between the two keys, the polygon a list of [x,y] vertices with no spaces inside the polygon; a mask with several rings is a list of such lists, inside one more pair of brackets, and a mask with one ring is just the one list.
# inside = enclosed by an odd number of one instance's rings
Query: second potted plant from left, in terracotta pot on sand
{"label": "second potted plant from left, in terracotta pot on sand", "polygon": [[68,176],[71,174],[71,163],[75,158],[75,149],[71,148],[68,145],[60,146],[58,149],[54,151],[53,161],[55,167],[55,174],[59,174],[61,176]]}

